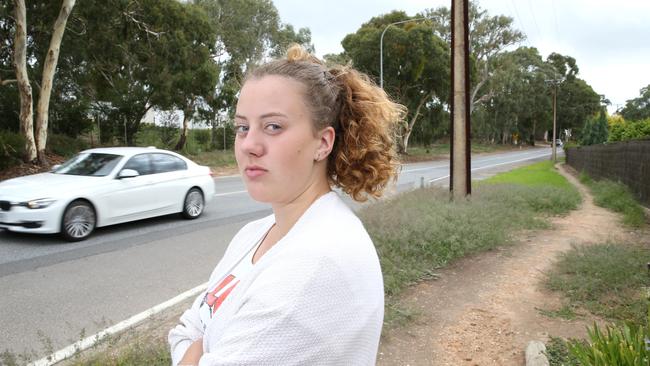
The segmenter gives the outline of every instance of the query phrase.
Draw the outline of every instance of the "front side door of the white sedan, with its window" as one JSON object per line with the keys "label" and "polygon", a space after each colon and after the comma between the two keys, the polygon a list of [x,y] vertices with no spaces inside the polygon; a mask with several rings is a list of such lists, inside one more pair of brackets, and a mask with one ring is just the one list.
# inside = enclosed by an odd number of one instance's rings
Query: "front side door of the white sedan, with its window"
{"label": "front side door of the white sedan, with its window", "polygon": [[138,220],[152,216],[152,211],[157,208],[156,192],[151,188],[154,185],[154,175],[151,166],[151,154],[134,155],[122,167],[138,172],[138,176],[131,178],[115,178],[115,189],[110,196],[109,212],[110,223]]}

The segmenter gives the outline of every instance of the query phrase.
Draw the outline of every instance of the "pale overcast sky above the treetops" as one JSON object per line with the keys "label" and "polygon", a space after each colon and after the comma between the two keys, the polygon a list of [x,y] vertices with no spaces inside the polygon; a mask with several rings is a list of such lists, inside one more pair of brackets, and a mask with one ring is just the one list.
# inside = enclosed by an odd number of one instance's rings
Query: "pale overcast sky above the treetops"
{"label": "pale overcast sky above the treetops", "polygon": [[[282,21],[308,27],[316,53],[343,51],[341,40],[373,16],[408,15],[451,6],[451,0],[273,0]],[[579,77],[615,110],[650,84],[649,0],[479,0],[492,15],[508,15],[543,58],[558,52],[576,59]],[[377,46],[379,47],[379,46]]]}

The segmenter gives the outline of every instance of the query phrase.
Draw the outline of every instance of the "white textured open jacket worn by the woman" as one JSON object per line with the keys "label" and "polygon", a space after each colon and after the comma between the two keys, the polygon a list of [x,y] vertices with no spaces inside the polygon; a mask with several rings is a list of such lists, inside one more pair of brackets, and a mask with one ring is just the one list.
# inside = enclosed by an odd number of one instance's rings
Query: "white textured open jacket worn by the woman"
{"label": "white textured open jacket worn by the woman", "polygon": [[[244,226],[210,276],[212,288],[274,223]],[[203,337],[199,365],[373,365],[384,315],[377,252],[361,221],[330,192],[240,279],[203,331],[204,293],[169,333],[173,364]]]}

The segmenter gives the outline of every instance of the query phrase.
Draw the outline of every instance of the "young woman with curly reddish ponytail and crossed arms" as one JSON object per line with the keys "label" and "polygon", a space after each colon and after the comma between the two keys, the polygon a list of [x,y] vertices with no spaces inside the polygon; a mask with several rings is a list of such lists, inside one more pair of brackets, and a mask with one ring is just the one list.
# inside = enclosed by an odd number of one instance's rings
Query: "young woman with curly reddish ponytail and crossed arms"
{"label": "young woman with curly reddish ponytail and crossed arms", "polygon": [[252,71],[235,116],[249,194],[273,214],[244,226],[208,290],[169,333],[174,365],[373,365],[384,291],[373,243],[332,187],[379,197],[396,173],[403,107],[300,46]]}

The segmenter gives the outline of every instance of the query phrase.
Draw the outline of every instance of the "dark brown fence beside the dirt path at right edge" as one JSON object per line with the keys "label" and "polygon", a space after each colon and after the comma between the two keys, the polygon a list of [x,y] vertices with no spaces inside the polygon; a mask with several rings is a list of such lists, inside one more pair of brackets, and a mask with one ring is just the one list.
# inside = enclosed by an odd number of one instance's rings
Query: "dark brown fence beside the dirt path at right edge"
{"label": "dark brown fence beside the dirt path at right edge", "polygon": [[650,206],[650,140],[573,147],[567,149],[566,161],[594,178],[624,183]]}

